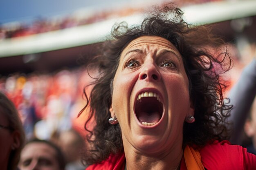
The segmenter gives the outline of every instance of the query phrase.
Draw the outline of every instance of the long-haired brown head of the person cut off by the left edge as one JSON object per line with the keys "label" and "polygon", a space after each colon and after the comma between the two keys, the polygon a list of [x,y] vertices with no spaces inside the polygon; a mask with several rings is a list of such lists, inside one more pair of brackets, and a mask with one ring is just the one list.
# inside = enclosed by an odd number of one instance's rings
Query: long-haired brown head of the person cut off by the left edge
{"label": "long-haired brown head of the person cut off by the left edge", "polygon": [[25,133],[14,104],[0,92],[0,166],[8,170],[17,168]]}

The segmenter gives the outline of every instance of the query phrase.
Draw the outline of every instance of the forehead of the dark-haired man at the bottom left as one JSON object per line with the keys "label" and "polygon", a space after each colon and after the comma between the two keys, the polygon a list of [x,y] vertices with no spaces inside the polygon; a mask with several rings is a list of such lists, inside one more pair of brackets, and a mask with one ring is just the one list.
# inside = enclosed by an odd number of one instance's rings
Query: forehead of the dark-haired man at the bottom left
{"label": "forehead of the dark-haired man at the bottom left", "polygon": [[27,159],[31,157],[49,157],[54,159],[56,157],[56,150],[45,143],[33,142],[25,146],[21,153],[21,159]]}

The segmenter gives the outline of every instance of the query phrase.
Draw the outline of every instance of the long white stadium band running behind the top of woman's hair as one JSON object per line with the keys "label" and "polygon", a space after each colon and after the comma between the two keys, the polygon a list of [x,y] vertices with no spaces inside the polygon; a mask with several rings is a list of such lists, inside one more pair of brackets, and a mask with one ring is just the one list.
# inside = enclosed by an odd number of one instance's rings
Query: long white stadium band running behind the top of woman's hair
{"label": "long white stadium band running behind the top of woman's hair", "polygon": [[[181,8],[191,24],[211,24],[256,15],[256,0],[218,1]],[[142,14],[105,20],[70,29],[40,33],[21,38],[0,40],[0,57],[41,53],[74,46],[103,42],[116,22],[139,24]]]}

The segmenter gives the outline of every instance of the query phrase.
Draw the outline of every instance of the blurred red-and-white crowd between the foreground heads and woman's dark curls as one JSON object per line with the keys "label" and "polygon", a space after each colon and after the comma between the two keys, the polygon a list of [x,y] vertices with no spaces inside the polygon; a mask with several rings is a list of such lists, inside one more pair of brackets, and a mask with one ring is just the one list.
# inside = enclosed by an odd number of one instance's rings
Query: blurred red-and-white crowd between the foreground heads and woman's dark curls
{"label": "blurred red-and-white crowd between the foreground heads and woman's dark curls", "polygon": [[[87,69],[61,70],[53,74],[13,74],[0,78],[0,91],[15,104],[27,139],[50,139],[55,132],[83,130],[86,113],[83,88],[92,78]],[[88,88],[89,89],[89,88]]]}

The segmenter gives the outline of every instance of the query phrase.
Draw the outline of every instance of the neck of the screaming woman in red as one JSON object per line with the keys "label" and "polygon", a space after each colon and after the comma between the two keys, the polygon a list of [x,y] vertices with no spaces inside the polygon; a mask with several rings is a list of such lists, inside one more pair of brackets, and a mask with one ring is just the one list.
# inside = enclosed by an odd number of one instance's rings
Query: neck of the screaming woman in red
{"label": "neck of the screaming woman in red", "polygon": [[169,150],[144,154],[133,147],[126,148],[126,170],[177,170],[182,159],[182,146],[177,142]]}

